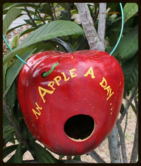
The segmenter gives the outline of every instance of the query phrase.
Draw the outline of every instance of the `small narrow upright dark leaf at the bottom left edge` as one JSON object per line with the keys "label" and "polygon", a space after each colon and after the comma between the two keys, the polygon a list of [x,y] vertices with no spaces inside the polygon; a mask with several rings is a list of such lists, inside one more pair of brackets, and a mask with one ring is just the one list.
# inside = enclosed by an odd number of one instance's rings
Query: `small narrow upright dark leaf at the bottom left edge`
{"label": "small narrow upright dark leaf at the bottom left edge", "polygon": [[22,163],[22,144],[21,143],[17,146],[13,163]]}

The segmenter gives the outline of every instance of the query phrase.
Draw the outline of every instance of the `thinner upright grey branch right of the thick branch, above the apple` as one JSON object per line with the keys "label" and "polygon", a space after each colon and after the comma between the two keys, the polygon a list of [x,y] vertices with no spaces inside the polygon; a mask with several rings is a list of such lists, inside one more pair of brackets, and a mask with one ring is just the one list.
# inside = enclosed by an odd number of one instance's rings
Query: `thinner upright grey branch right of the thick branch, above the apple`
{"label": "thinner upright grey branch right of the thick branch, above the apple", "polygon": [[106,25],[106,3],[99,4],[98,36],[104,44]]}

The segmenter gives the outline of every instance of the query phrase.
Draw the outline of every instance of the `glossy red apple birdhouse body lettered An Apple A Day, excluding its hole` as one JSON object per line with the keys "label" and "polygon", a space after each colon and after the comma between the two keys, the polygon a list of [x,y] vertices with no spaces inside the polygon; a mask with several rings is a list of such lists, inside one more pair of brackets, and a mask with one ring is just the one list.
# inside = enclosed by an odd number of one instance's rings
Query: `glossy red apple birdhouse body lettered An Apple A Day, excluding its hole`
{"label": "glossy red apple birdhouse body lettered An Apple A Day, excluding its hole", "polygon": [[[56,62],[59,65],[43,78],[42,73]],[[112,131],[121,108],[124,76],[118,61],[98,50],[46,51],[30,57],[27,64],[30,67],[24,65],[19,74],[17,91],[35,138],[60,155],[80,155],[96,148]],[[65,122],[79,114],[95,122],[94,132],[81,141],[64,132]]]}

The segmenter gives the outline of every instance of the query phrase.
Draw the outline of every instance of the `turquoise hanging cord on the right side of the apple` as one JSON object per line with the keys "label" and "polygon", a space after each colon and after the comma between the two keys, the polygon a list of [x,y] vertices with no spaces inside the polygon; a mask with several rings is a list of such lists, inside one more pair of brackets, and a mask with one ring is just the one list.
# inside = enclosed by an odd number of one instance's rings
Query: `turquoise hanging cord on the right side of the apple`
{"label": "turquoise hanging cord on the right side of the apple", "polygon": [[122,37],[122,33],[123,33],[123,27],[124,27],[124,13],[123,13],[123,8],[122,8],[122,4],[119,3],[120,5],[120,9],[121,9],[121,15],[122,15],[122,24],[121,24],[121,30],[120,30],[120,35],[119,35],[119,39],[115,45],[115,47],[113,48],[113,50],[111,51],[110,55],[113,54],[113,52],[116,50],[117,46],[119,45],[119,42],[121,40],[121,37]]}

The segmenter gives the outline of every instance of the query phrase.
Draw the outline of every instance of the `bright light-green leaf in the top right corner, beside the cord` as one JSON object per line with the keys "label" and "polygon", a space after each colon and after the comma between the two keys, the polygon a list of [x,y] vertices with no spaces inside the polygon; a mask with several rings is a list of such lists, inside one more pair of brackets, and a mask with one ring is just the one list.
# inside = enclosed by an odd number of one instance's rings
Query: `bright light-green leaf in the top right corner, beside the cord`
{"label": "bright light-green leaf in the top right corner, beside the cord", "polygon": [[138,4],[137,3],[126,3],[124,6],[124,22],[130,19],[138,12]]}

